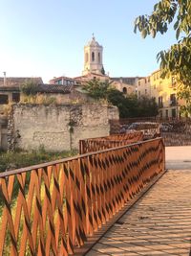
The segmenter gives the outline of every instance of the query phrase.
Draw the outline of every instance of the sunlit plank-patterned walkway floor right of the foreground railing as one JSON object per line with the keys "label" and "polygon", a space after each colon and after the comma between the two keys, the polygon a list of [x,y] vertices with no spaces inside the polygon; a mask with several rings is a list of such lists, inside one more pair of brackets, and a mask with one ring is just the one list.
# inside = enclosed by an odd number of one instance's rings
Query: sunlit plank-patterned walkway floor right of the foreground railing
{"label": "sunlit plank-patterned walkway floor right of the foreground railing", "polygon": [[[168,171],[87,256],[188,256],[191,240],[191,171]],[[191,254],[190,254],[191,255]]]}

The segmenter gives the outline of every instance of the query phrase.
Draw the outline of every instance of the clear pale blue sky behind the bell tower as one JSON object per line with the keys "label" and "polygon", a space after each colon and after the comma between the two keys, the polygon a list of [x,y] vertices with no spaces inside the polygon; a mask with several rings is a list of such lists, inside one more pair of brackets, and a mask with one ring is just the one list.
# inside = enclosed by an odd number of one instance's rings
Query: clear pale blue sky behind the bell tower
{"label": "clear pale blue sky behind the bell tower", "polygon": [[83,47],[92,34],[103,46],[111,77],[147,76],[156,55],[175,42],[173,31],[157,38],[135,35],[134,20],[157,0],[0,0],[0,77],[77,77]]}

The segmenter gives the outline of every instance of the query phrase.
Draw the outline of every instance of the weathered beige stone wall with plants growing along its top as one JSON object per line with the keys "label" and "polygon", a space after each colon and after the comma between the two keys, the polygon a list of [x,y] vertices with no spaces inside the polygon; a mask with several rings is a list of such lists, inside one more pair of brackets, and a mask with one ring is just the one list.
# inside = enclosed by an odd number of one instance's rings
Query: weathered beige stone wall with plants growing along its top
{"label": "weathered beige stone wall with plants growing along its top", "polygon": [[9,149],[78,149],[80,139],[109,135],[111,118],[118,119],[116,106],[13,105],[9,121]]}

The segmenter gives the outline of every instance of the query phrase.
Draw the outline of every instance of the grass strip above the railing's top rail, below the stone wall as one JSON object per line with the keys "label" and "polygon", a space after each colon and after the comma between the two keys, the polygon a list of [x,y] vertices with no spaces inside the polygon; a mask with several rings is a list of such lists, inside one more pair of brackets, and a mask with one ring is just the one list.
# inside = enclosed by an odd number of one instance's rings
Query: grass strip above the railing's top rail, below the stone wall
{"label": "grass strip above the railing's top rail, below the stone wall", "polygon": [[45,163],[75,155],[76,151],[48,152],[39,151],[0,151],[0,172],[10,171],[35,164]]}

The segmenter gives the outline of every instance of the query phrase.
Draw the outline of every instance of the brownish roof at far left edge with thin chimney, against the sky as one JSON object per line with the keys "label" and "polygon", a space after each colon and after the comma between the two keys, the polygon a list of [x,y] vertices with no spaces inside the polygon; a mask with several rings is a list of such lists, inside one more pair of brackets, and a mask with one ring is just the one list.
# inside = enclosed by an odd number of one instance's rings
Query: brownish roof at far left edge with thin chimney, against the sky
{"label": "brownish roof at far left edge with thin chimney, against the sky", "polygon": [[[6,78],[6,86],[19,87],[22,83],[26,81],[35,81],[36,83],[43,83],[41,78]],[[0,78],[0,86],[4,85],[4,78]]]}

